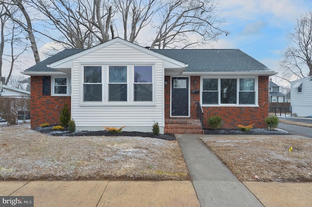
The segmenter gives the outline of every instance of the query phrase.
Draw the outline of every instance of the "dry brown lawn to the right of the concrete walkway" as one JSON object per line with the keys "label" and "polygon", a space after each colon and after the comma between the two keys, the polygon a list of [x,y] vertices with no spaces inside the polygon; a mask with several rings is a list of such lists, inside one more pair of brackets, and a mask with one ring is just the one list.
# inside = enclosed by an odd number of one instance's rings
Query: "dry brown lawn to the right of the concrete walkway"
{"label": "dry brown lawn to the right of the concrete walkway", "polygon": [[[312,139],[296,135],[200,138],[240,181],[312,181]],[[292,151],[289,149],[292,147]]]}

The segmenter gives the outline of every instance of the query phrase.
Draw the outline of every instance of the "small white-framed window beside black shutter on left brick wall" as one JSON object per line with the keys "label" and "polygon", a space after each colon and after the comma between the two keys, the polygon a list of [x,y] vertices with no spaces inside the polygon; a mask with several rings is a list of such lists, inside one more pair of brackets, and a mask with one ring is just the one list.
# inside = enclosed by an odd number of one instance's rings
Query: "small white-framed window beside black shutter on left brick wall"
{"label": "small white-framed window beside black shutter on left brick wall", "polygon": [[70,95],[70,78],[53,77],[52,95]]}

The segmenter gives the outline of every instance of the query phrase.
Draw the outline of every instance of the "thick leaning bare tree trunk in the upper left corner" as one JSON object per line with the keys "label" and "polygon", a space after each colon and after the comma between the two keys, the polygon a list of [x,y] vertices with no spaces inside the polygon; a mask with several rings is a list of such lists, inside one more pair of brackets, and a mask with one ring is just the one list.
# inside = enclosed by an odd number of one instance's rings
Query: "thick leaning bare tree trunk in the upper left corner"
{"label": "thick leaning bare tree trunk in the upper left corner", "polygon": [[[30,16],[28,15],[28,12],[26,11],[26,8],[24,7],[23,0],[0,0],[0,3],[5,8],[5,15],[7,15],[10,19],[12,19],[14,22],[18,23],[28,34],[26,39],[30,40],[31,48],[35,57],[36,63],[40,62],[39,52],[37,48],[37,42],[35,39],[33,26],[32,26],[32,20]],[[21,17],[16,17],[10,10],[9,6],[17,6],[20,9],[20,12],[23,15],[23,22],[21,20]],[[19,18],[19,19],[18,19]]]}

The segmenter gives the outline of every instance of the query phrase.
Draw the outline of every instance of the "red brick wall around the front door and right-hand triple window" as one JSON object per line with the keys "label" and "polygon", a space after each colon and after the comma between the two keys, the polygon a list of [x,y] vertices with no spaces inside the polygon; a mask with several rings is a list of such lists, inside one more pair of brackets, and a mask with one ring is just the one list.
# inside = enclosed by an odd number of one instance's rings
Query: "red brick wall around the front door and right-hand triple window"
{"label": "red brick wall around the front door and right-hand triple window", "polygon": [[[165,85],[165,118],[170,117],[170,76],[165,76],[167,85]],[[194,81],[196,80],[196,85]],[[209,128],[207,120],[209,116],[219,115],[222,117],[222,128],[237,129],[237,125],[255,124],[254,128],[266,128],[265,117],[269,114],[269,80],[268,76],[259,76],[259,107],[203,107],[204,110],[204,128]],[[200,90],[200,77],[191,76],[191,117],[196,118],[195,102],[200,101],[200,94],[192,94],[193,90]],[[181,117],[178,117],[181,119]]]}

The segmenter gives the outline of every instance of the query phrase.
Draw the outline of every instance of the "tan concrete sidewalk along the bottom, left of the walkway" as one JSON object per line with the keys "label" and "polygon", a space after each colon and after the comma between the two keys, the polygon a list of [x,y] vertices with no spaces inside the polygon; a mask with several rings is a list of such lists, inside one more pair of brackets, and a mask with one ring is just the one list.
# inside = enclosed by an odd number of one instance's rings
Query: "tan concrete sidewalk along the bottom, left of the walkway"
{"label": "tan concrete sidewalk along the bottom, left of the walkway", "polygon": [[1,196],[34,207],[199,207],[191,181],[0,181]]}

